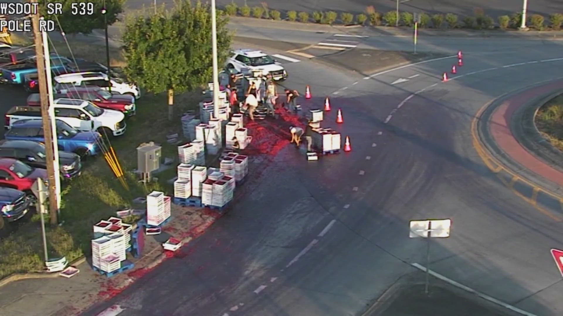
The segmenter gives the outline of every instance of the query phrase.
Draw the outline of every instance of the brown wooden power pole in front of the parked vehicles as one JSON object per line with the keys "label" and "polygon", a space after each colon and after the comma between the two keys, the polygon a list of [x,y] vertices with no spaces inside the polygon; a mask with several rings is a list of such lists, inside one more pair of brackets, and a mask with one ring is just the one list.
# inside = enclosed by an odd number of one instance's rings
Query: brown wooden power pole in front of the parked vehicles
{"label": "brown wooden power pole in front of the parked vehicles", "polygon": [[[37,3],[37,0],[31,0],[31,3]],[[49,117],[49,99],[48,94],[52,91],[47,91],[47,73],[46,71],[51,71],[50,69],[45,69],[45,56],[43,54],[43,45],[48,45],[48,43],[43,43],[43,37],[41,36],[41,31],[39,30],[39,13],[36,13],[32,17],[33,19],[33,37],[35,39],[35,53],[37,54],[37,74],[39,76],[39,94],[41,95],[41,119],[43,121],[43,133],[45,139],[45,151],[47,155],[47,177],[48,177],[48,192],[49,192],[49,215],[51,218],[51,224],[56,225],[59,223],[57,220],[57,215],[59,214],[59,205],[57,205],[57,188],[55,177],[60,177],[60,175],[55,174],[55,168],[53,167],[53,161],[55,160],[55,154],[53,151],[53,133],[51,123],[51,118]],[[50,58],[47,56],[47,58]]]}

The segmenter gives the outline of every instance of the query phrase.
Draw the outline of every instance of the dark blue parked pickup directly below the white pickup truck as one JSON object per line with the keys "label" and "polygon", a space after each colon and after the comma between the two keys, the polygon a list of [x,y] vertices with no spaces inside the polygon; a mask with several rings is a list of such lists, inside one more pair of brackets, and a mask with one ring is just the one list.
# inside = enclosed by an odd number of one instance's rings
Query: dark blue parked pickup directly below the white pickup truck
{"label": "dark blue parked pickup directly below the white pickup truck", "polygon": [[[74,152],[78,156],[94,156],[101,152],[102,138],[98,132],[79,132],[64,121],[56,120],[57,145],[59,150]],[[11,140],[45,142],[41,119],[20,120],[4,134]]]}

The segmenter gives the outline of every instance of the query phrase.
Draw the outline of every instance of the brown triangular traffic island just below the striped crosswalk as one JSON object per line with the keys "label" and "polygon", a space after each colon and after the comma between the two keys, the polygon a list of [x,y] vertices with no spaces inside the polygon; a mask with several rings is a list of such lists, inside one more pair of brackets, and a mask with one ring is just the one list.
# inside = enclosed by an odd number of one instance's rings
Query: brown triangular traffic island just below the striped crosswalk
{"label": "brown triangular traffic island just below the striped crosswalk", "polygon": [[[307,51],[303,51],[307,53]],[[314,54],[311,54],[314,55]],[[369,75],[390,67],[410,64],[431,58],[444,57],[444,54],[412,53],[397,51],[377,51],[374,49],[351,49],[328,53],[313,60],[338,69]]]}

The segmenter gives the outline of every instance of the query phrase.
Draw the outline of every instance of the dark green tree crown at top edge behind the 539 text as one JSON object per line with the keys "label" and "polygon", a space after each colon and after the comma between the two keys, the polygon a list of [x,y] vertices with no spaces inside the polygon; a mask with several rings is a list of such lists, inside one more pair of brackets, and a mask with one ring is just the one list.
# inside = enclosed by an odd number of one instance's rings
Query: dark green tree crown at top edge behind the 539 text
{"label": "dark green tree crown at top edge behind the 539 text", "polygon": [[[55,21],[57,29],[62,29],[67,34],[90,34],[92,30],[105,28],[104,14],[102,13],[104,6],[108,25],[111,25],[118,20],[119,13],[123,12],[124,2],[125,0],[88,0],[88,2],[39,0],[39,7],[41,8],[41,15],[46,20]],[[47,14],[46,3],[61,3],[62,14]],[[88,3],[92,3],[93,6]]]}

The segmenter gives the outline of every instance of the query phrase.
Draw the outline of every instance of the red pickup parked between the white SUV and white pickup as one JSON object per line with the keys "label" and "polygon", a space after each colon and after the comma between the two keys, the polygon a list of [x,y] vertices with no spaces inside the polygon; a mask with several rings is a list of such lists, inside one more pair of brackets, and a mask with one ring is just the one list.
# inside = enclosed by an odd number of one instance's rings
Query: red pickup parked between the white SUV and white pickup
{"label": "red pickup parked between the white SUV and white pickup", "polygon": [[[128,94],[111,94],[99,87],[72,87],[55,91],[53,98],[87,100],[104,109],[117,110],[125,115],[135,115],[135,97]],[[41,105],[39,93],[30,94],[27,105]]]}

